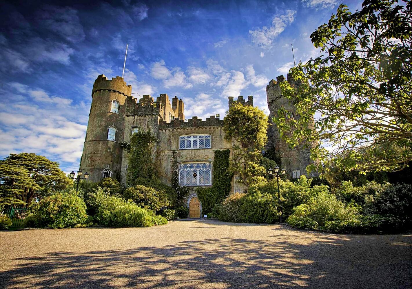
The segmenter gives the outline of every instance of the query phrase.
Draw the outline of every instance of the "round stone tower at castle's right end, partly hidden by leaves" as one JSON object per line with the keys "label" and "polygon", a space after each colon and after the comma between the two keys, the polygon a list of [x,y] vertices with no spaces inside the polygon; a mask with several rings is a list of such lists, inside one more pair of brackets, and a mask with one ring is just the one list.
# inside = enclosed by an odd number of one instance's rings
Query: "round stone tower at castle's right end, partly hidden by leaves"
{"label": "round stone tower at castle's right end, partly hidden by leaves", "polygon": [[[280,138],[279,129],[272,124],[272,119],[276,116],[280,107],[284,107],[289,113],[288,117],[299,118],[296,113],[296,107],[286,97],[282,96],[282,90],[279,83],[285,81],[285,77],[280,75],[276,81],[272,79],[266,86],[267,105],[269,107],[269,128],[267,149],[274,148],[276,155],[280,157],[281,165],[286,169],[290,178],[297,178],[300,175],[307,175],[306,167],[311,164],[310,149],[313,144],[303,144],[296,148],[289,149],[286,141]],[[288,74],[288,82],[292,86],[298,86],[299,83],[293,79],[292,74]],[[311,176],[315,176],[311,173]]]}

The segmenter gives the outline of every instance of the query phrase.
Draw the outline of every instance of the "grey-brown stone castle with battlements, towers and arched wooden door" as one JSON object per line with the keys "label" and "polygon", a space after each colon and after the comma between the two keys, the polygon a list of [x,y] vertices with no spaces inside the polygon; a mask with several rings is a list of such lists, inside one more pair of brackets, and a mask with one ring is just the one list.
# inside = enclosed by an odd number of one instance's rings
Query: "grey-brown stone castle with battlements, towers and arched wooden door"
{"label": "grey-brown stone castle with battlements, towers and arched wooden door", "polygon": [[[269,118],[280,106],[284,106],[292,117],[295,107],[282,97],[278,83],[284,81],[283,75],[272,80],[266,88]],[[288,81],[293,78],[288,75]],[[90,174],[89,180],[98,182],[102,178],[113,177],[126,184],[128,169],[126,150],[121,142],[129,142],[131,133],[138,129],[150,129],[159,139],[157,149],[166,157],[163,162],[165,177],[163,183],[171,184],[171,154],[177,152],[180,185],[190,186],[187,206],[190,217],[200,217],[201,203],[197,199],[197,187],[213,183],[213,158],[215,150],[229,149],[232,153],[234,142],[225,139],[223,118],[219,115],[201,120],[196,116],[185,121],[184,103],[176,96],[171,100],[161,94],[156,101],[150,95],[137,99],[131,96],[131,85],[122,77],[112,80],[103,74],[94,82],[91,92],[92,102],[87,125],[86,138],[80,168]],[[253,106],[253,96],[248,100],[239,96],[237,100],[229,97],[229,106],[234,102]],[[279,138],[274,125],[268,129],[268,148],[275,148],[290,178],[306,174],[310,161],[310,146],[299,146],[290,150],[285,141]],[[247,187],[232,179],[231,192],[243,192]],[[207,212],[206,212],[207,213]]]}

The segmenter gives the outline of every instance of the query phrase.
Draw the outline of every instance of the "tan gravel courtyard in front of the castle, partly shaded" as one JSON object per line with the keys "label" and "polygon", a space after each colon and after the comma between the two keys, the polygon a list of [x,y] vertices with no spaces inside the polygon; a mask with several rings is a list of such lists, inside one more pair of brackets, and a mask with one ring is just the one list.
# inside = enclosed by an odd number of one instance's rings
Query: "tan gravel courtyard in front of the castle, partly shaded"
{"label": "tan gravel courtyard in front of the castle, partly shaded", "polygon": [[0,231],[1,288],[412,288],[412,234],[213,220]]}

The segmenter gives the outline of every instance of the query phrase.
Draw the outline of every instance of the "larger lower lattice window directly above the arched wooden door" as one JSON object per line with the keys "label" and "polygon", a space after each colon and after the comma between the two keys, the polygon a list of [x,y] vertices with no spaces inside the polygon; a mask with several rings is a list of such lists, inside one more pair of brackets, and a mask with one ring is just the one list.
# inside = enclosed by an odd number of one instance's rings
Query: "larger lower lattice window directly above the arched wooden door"
{"label": "larger lower lattice window directly above the arched wooden door", "polygon": [[179,164],[179,185],[208,186],[212,184],[210,163]]}

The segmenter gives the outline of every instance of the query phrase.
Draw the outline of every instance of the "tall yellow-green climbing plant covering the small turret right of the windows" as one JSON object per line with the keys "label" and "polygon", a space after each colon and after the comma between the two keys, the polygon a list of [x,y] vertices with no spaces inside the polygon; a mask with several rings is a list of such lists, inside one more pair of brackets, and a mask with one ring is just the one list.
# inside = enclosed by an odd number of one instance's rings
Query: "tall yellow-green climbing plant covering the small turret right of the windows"
{"label": "tall yellow-green climbing plant covering the small turret right of the windows", "polygon": [[225,139],[232,138],[240,143],[233,146],[230,172],[250,185],[254,176],[265,176],[266,170],[260,165],[262,149],[267,143],[268,118],[258,107],[235,102],[226,112]]}

